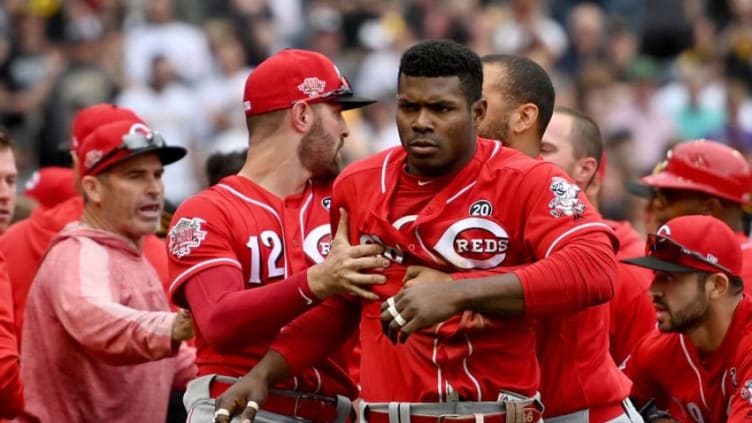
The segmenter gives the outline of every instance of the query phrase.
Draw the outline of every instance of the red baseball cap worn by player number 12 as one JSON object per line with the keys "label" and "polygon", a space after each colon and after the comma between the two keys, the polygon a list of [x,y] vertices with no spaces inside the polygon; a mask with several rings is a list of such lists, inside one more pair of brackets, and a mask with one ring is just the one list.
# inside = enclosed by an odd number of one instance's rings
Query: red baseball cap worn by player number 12
{"label": "red baseball cap worn by player number 12", "polygon": [[337,66],[323,54],[310,50],[280,50],[261,62],[245,81],[246,116],[287,109],[301,100],[339,103],[343,110],[375,103],[355,97]]}

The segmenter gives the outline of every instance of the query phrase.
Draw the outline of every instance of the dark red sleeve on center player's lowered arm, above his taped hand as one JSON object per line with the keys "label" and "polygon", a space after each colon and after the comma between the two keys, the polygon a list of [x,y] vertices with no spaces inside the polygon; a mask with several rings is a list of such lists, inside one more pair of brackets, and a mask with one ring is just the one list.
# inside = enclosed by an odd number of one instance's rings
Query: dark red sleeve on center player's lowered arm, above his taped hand
{"label": "dark red sleeve on center player's lowered arm, above his taped hand", "polygon": [[287,360],[290,374],[299,374],[337,351],[359,323],[359,304],[336,295],[287,325],[270,349]]}

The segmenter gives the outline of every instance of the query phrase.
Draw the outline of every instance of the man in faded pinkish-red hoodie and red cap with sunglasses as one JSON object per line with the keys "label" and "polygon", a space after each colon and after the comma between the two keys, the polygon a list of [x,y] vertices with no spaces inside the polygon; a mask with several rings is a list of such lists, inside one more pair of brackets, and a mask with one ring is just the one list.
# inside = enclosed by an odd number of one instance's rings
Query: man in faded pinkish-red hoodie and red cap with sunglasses
{"label": "man in faded pinkish-red hoodie and red cap with sunglasses", "polygon": [[[139,120],[98,126],[76,149],[81,221],[53,238],[28,296],[19,421],[164,421],[193,336],[142,255],[159,224],[163,166],[185,156]],[[163,360],[164,359],[164,360]]]}

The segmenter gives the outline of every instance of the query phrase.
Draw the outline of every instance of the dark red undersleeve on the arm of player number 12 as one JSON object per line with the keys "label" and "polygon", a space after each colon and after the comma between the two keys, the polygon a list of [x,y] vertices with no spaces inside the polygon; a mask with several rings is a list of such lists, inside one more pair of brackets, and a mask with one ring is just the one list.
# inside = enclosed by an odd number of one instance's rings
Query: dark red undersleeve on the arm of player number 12
{"label": "dark red undersleeve on the arm of player number 12", "polygon": [[318,302],[308,287],[307,272],[244,289],[243,275],[234,266],[193,275],[185,283],[185,296],[199,331],[220,352],[274,336]]}

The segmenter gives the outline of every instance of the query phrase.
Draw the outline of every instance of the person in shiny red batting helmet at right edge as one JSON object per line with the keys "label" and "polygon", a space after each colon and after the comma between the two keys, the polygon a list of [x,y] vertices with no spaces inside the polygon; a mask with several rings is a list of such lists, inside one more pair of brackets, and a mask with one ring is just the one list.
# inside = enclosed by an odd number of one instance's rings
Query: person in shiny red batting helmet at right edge
{"label": "person in shiny red batting helmet at right edge", "polygon": [[[687,214],[726,222],[742,247],[741,277],[752,281],[752,241],[742,225],[742,206],[752,202],[752,167],[740,152],[710,140],[683,142],[640,182],[652,188],[648,207],[658,225]],[[752,284],[745,291],[752,293]]]}

